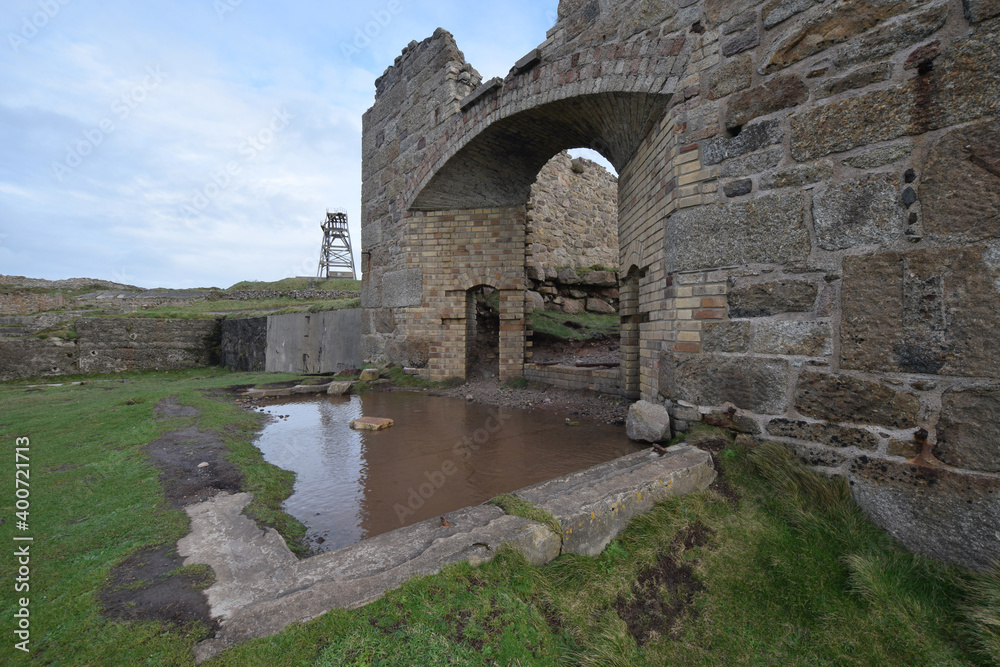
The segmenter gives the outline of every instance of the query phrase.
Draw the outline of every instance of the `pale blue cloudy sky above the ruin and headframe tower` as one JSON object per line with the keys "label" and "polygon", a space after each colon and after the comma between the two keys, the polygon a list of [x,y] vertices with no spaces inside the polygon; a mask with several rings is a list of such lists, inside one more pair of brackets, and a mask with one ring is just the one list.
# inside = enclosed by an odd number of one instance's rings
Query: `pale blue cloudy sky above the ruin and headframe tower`
{"label": "pale blue cloudy sky above the ruin and headframe tower", "polygon": [[0,274],[228,287],[316,274],[345,209],[361,252],[361,117],[411,40],[484,79],[557,0],[3,0]]}

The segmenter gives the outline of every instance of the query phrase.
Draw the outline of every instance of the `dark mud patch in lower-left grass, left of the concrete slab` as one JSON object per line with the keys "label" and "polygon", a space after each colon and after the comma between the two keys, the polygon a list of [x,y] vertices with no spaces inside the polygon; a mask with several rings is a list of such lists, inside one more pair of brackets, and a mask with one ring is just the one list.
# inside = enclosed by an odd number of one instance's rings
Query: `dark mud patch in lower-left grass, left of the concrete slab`
{"label": "dark mud patch in lower-left grass, left of the concrete slab", "polygon": [[160,621],[174,626],[200,623],[206,636],[218,621],[202,590],[214,576],[211,570],[187,569],[173,547],[143,549],[116,565],[99,593],[102,613],[120,621]]}

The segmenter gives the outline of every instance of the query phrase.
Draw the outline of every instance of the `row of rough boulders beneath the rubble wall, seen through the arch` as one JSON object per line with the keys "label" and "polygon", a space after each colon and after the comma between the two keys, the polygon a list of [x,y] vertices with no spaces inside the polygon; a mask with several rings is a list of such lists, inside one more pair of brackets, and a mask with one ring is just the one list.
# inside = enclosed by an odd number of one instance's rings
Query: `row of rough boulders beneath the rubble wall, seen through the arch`
{"label": "row of rough boulders beneath the rubble wall, seen through the arch", "polygon": [[584,311],[598,315],[618,312],[621,294],[618,274],[592,271],[581,277],[573,269],[528,267],[528,310],[553,310],[569,315]]}

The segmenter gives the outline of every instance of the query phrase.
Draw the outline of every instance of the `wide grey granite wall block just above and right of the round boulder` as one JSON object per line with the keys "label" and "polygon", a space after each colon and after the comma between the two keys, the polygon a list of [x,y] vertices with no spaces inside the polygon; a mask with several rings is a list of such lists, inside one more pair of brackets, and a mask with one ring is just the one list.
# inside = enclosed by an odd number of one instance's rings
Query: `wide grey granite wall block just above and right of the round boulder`
{"label": "wide grey granite wall block just above and right of the round boulder", "polygon": [[660,393],[700,406],[735,407],[782,414],[787,407],[788,365],[784,361],[700,354],[660,355]]}

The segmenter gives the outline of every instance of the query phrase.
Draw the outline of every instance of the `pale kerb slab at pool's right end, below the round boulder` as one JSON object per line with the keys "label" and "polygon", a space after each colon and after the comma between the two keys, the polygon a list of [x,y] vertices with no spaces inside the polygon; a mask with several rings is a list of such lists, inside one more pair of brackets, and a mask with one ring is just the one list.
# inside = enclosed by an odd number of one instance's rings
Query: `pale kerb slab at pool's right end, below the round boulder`
{"label": "pale kerb slab at pool's right end, below the round boulder", "polygon": [[596,556],[659,501],[702,491],[715,480],[712,457],[694,447],[659,456],[637,452],[517,491],[563,528],[563,553]]}

